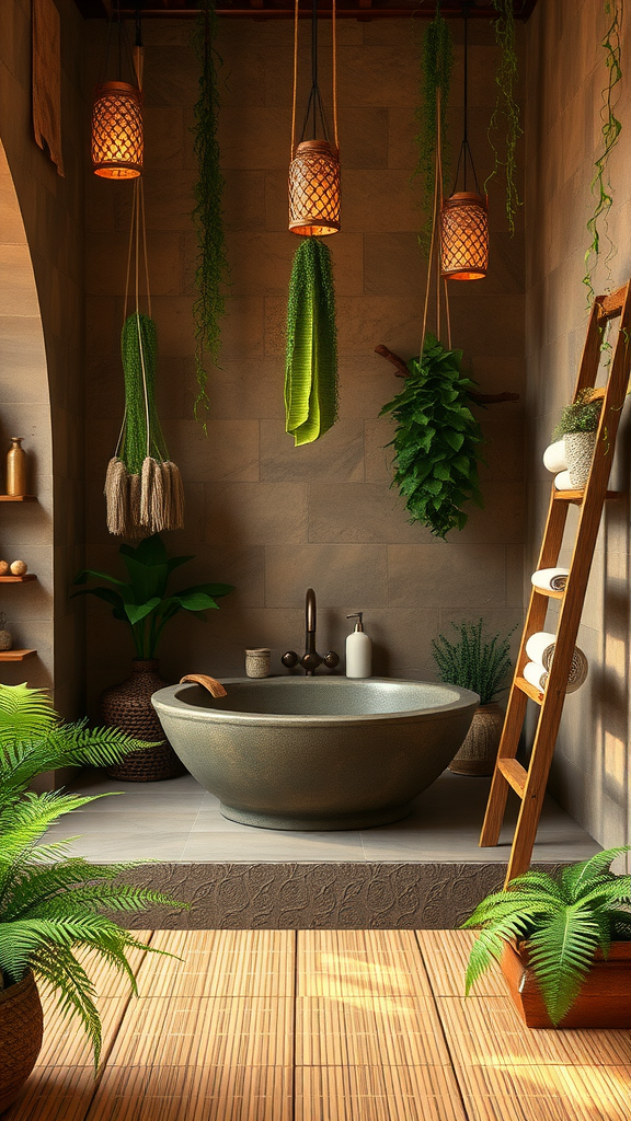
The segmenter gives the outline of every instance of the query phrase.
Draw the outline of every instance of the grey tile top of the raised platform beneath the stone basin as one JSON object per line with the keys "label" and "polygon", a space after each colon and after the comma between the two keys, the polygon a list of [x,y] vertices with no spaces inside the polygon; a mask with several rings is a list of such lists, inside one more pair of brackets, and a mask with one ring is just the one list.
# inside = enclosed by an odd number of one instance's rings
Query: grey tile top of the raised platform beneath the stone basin
{"label": "grey tile top of the raised platform beneath the stone basin", "polygon": [[[85,771],[72,789],[82,794],[122,791],[99,798],[48,831],[51,839],[80,835],[77,855],[100,860],[150,858],[163,862],[384,862],[505,863],[512,837],[479,849],[490,779],[445,771],[414,802],[412,814],[393,825],[339,833],[298,833],[240,825],[222,817],[219,802],[190,776],[165,782],[120,782]],[[515,805],[511,807],[514,821]],[[547,797],[533,860],[585,860],[600,845]]]}

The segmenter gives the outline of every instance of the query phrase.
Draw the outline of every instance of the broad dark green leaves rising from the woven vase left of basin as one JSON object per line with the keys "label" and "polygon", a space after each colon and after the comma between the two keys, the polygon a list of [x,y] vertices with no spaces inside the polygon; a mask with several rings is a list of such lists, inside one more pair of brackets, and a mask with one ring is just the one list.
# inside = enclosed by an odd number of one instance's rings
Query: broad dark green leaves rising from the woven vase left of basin
{"label": "broad dark green leaves rising from the woven vase left of basin", "polygon": [[136,548],[121,545],[119,554],[127,568],[128,582],[107,572],[85,568],[74,583],[88,577],[107,580],[113,587],[85,587],[75,595],[95,595],[111,605],[115,619],[129,623],[138,658],[154,658],[162,632],[179,611],[190,611],[204,620],[203,612],[217,608],[220,596],[234,591],[231,584],[195,584],[180,592],[167,592],[172,572],[192,560],[192,556],[167,557],[159,534],[147,537]]}

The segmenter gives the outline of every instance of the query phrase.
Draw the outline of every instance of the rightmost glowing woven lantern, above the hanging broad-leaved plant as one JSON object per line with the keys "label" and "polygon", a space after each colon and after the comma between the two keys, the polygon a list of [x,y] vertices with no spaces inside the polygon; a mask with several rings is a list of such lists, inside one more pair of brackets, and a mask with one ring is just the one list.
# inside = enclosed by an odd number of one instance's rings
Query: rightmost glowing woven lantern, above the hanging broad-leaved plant
{"label": "rightmost glowing woven lantern, above the hanging broad-leaved plant", "polygon": [[459,191],[442,203],[440,275],[447,280],[479,280],[488,268],[486,198]]}

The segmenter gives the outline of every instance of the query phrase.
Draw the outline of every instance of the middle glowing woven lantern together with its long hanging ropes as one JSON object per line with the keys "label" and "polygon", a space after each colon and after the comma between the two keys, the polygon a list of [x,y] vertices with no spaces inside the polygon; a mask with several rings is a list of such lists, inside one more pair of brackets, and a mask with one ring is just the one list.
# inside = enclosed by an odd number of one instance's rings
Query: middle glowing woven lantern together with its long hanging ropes
{"label": "middle glowing woven lantern together with its long hanging ropes", "polygon": [[[336,85],[336,0],[332,0],[332,72],[333,72],[333,139],[329,140],[322,95],[318,85],[318,0],[313,0],[311,17],[311,92],[302,126],[302,136],[295,143],[295,109],[298,89],[298,28],[299,0],[294,0],[294,77],[292,105],[292,146],[290,164],[290,230],[303,237],[323,238],[340,228],[340,170]],[[313,139],[304,133],[311,122]],[[319,124],[323,139],[317,139]]]}

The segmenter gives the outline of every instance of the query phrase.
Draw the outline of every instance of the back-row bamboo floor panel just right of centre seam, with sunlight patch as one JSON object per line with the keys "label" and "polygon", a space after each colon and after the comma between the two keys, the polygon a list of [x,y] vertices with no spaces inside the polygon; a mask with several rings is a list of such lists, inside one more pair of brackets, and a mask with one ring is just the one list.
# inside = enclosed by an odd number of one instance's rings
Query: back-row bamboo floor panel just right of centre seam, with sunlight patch
{"label": "back-row bamboo floor panel just right of centre seam, with sunlight patch", "polygon": [[299,997],[431,997],[413,930],[299,930]]}

